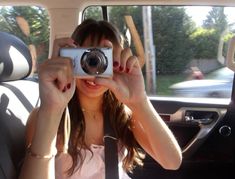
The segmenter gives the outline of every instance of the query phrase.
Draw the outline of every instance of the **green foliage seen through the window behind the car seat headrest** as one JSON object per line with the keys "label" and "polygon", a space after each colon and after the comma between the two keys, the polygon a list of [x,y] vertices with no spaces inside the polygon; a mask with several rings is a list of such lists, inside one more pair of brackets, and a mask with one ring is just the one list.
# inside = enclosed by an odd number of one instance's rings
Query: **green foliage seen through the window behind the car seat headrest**
{"label": "green foliage seen through the window behind the car seat headrest", "polygon": [[[16,17],[23,17],[29,24],[30,35],[27,37],[16,22]],[[49,16],[44,8],[36,6],[7,6],[0,8],[0,30],[11,33],[22,39],[26,44],[43,48],[38,59],[47,57],[49,50]],[[42,49],[39,51],[42,51]]]}

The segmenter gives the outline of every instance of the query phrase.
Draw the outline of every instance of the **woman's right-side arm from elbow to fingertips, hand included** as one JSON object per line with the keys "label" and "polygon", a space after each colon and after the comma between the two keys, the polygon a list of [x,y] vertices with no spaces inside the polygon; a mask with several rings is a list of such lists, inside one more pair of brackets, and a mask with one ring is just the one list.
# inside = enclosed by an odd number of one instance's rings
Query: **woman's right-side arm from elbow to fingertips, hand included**
{"label": "woman's right-side arm from elbow to fingertips, hand included", "polygon": [[149,101],[138,58],[130,48],[114,46],[112,79],[97,78],[96,83],[112,90],[117,99],[133,113],[132,128],[136,140],[162,167],[179,168],[182,161],[180,147],[164,121]]}

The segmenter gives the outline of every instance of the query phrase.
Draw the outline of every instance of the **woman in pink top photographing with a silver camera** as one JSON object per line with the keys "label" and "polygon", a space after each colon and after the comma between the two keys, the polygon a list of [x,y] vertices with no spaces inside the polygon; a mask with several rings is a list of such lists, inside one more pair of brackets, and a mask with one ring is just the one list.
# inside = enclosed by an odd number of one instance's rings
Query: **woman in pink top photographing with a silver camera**
{"label": "woman in pink top photographing with a silver camera", "polygon": [[[94,30],[95,29],[95,30]],[[59,57],[62,47],[112,47],[113,77],[73,76],[72,62]],[[40,107],[27,124],[30,146],[21,178],[104,178],[104,114],[115,131],[125,172],[141,165],[139,144],[163,168],[177,169],[180,147],[147,98],[138,58],[123,48],[118,30],[105,21],[85,20],[72,39],[54,43],[52,59],[39,67]],[[71,118],[68,154],[64,137],[66,107]],[[55,151],[57,155],[55,156]],[[95,170],[95,168],[98,168]]]}

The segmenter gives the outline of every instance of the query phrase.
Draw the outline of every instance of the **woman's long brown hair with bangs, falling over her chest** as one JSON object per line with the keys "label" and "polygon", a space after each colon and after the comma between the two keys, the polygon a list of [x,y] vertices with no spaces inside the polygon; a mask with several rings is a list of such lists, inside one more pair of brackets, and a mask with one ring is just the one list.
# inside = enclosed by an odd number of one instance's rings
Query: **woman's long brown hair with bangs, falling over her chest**
{"label": "woman's long brown hair with bangs, falling over her chest", "polygon": [[[75,29],[72,35],[72,38],[80,46],[82,46],[88,37],[95,44],[100,42],[103,37],[109,39],[113,44],[123,44],[123,38],[118,29],[106,21],[85,20]],[[71,155],[73,161],[71,168],[68,170],[68,174],[72,175],[74,170],[80,168],[83,164],[85,156],[82,155],[82,149],[90,149],[85,143],[86,123],[77,97],[77,91],[70,100],[68,107],[71,118],[71,135],[68,153]],[[119,102],[110,90],[107,90],[103,95],[102,109],[104,117],[104,114],[108,114],[108,119],[104,120],[110,120],[111,127],[114,129],[121,145],[120,148],[122,149],[124,147],[127,149],[127,155],[123,159],[123,168],[125,171],[131,172],[135,165],[142,165],[142,153],[131,131],[131,114],[127,112],[124,104]],[[63,115],[58,131],[60,139],[63,139],[64,117]]]}

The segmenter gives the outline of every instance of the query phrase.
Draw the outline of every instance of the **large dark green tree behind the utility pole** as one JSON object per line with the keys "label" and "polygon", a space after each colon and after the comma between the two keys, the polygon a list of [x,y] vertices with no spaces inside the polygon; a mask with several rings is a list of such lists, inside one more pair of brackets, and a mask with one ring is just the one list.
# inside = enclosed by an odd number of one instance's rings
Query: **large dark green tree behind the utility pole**
{"label": "large dark green tree behind the utility pole", "polygon": [[[111,6],[109,20],[122,34],[126,32],[125,15],[131,15],[143,42],[142,6]],[[86,14],[97,18],[94,9]],[[173,6],[152,7],[154,43],[156,45],[156,68],[161,74],[178,73],[185,69],[193,56],[190,49],[190,34],[195,24],[185,13],[184,8]],[[131,46],[133,47],[133,46]]]}

